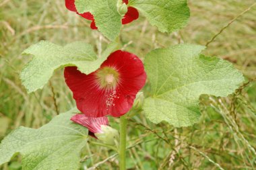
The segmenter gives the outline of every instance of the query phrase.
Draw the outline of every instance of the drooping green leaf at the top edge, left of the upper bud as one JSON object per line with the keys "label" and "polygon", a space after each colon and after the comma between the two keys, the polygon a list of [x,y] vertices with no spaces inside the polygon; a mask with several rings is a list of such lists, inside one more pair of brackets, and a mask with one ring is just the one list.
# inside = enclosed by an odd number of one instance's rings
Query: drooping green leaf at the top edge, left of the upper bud
{"label": "drooping green leaf at the top edge, left of the upper bud", "polygon": [[122,16],[117,10],[117,0],[75,0],[78,13],[90,12],[96,26],[109,40],[115,40],[121,30]]}

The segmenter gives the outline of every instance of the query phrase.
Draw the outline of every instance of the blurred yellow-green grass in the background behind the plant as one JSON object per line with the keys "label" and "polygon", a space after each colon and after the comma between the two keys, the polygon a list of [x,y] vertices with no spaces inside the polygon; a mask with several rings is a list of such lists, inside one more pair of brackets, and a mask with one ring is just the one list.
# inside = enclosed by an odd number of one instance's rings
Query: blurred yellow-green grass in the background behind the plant
{"label": "blurred yellow-green grass in the background behind the plant", "polygon": [[[124,26],[123,49],[145,56],[154,48],[179,42],[205,45],[254,0],[191,0],[186,28],[162,34],[144,17]],[[256,169],[256,7],[238,17],[211,44],[205,54],[230,60],[248,83],[229,97],[201,97],[201,119],[187,128],[150,123],[143,114],[128,122],[128,169]],[[3,0],[0,2],[0,138],[18,126],[39,128],[59,112],[75,105],[63,71],[51,84],[28,94],[19,74],[28,56],[22,50],[40,40],[67,44],[82,40],[100,53],[107,40],[82,17],[65,9],[64,0]],[[53,97],[53,91],[55,97]],[[113,120],[117,127],[118,120]],[[134,128],[135,127],[135,128]],[[83,167],[118,169],[116,155],[106,148],[85,148]],[[83,156],[84,156],[83,155]],[[20,157],[0,169],[21,169]],[[91,168],[90,168],[91,167]]]}

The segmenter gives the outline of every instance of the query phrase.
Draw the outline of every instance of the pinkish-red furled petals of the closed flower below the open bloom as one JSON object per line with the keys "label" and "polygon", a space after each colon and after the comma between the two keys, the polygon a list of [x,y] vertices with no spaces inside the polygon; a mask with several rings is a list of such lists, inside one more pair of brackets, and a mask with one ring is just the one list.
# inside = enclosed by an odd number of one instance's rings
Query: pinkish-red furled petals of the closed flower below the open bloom
{"label": "pinkish-red furled petals of the closed flower below the open bloom", "polygon": [[101,125],[108,125],[108,118],[91,118],[84,114],[76,114],[71,118],[71,120],[77,124],[81,124],[88,128],[91,133],[102,133]]}

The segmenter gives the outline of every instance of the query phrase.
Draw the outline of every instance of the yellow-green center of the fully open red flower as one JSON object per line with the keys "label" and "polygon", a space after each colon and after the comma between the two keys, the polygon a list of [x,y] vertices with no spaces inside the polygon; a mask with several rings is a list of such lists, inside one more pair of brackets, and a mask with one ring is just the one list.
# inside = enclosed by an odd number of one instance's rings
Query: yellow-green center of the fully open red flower
{"label": "yellow-green center of the fully open red flower", "polygon": [[102,89],[115,89],[119,82],[119,73],[111,68],[104,67],[96,73],[97,83]]}

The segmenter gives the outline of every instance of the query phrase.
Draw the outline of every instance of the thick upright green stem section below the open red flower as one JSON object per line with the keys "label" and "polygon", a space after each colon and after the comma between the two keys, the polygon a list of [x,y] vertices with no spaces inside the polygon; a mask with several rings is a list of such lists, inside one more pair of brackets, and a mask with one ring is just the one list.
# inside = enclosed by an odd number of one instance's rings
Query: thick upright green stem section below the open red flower
{"label": "thick upright green stem section below the open red flower", "polygon": [[126,169],[126,131],[127,131],[127,119],[125,116],[120,118],[120,148],[119,148],[119,169]]}

